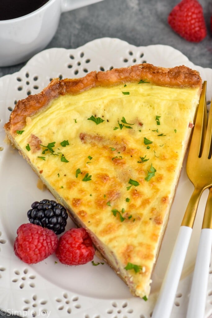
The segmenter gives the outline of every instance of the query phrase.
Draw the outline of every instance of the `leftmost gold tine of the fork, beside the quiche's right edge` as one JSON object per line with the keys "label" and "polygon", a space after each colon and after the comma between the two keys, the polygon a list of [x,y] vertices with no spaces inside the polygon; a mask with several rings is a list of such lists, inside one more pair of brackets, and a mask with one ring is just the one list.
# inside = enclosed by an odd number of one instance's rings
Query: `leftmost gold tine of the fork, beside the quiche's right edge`
{"label": "leftmost gold tine of the fork, beside the quiche's right edge", "polygon": [[[202,85],[202,93],[200,96],[199,107],[196,115],[195,127],[193,130],[193,135],[191,139],[190,149],[189,149],[189,156],[191,156],[191,160],[194,157],[201,156],[202,154],[202,147],[203,142],[206,134],[206,127],[207,127],[207,109],[206,109],[206,86],[207,82],[204,81]],[[188,162],[188,161],[187,161]]]}

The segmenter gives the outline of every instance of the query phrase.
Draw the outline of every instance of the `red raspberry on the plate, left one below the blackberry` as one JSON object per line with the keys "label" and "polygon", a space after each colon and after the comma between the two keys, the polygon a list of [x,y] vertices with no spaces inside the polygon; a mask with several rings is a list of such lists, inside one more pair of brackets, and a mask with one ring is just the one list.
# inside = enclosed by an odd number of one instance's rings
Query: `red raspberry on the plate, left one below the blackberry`
{"label": "red raspberry on the plate, left one below the blackberry", "polygon": [[54,253],[57,245],[58,237],[52,230],[27,223],[17,229],[14,251],[23,262],[35,264]]}

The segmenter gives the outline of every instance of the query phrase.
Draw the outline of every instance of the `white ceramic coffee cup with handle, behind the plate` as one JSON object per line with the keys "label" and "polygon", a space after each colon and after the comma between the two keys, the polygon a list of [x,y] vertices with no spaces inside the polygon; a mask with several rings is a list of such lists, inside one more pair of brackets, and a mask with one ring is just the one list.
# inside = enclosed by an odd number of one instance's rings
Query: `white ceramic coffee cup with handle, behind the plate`
{"label": "white ceramic coffee cup with handle, behind the plate", "polygon": [[62,12],[99,1],[49,0],[38,10],[23,17],[1,20],[0,66],[22,63],[42,51],[53,38]]}

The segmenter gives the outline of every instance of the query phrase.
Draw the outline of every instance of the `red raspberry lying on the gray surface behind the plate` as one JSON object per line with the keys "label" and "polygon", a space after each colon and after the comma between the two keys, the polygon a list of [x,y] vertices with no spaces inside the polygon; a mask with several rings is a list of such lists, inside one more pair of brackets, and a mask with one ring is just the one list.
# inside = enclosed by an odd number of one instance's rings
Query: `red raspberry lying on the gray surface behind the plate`
{"label": "red raspberry lying on the gray surface behind the plate", "polygon": [[168,24],[190,42],[200,42],[207,35],[202,6],[197,0],[178,3],[168,16]]}

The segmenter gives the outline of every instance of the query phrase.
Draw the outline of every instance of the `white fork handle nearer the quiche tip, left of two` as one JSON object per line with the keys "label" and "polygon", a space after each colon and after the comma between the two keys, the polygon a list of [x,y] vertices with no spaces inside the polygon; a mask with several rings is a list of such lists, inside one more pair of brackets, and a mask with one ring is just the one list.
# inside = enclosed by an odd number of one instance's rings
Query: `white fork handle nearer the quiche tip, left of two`
{"label": "white fork handle nearer the quiche tip, left of two", "polygon": [[191,233],[191,227],[180,227],[152,318],[170,317]]}

